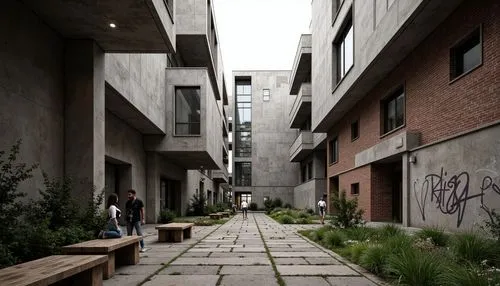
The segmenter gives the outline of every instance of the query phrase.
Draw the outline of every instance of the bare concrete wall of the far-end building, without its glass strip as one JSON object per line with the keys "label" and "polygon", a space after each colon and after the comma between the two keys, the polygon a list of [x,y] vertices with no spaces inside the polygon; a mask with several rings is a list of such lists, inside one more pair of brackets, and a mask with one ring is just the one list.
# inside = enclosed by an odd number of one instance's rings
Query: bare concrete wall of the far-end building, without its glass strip
{"label": "bare concrete wall of the far-end building, without its glass strip", "polygon": [[[251,157],[235,156],[237,116],[233,114],[233,198],[240,203],[241,194],[251,194],[251,201],[259,208],[264,200],[280,198],[284,204],[294,203],[294,188],[298,183],[298,164],[289,161],[289,148],[296,134],[290,130],[289,111],[294,98],[289,95],[289,71],[233,71],[233,97],[231,105],[238,112],[236,104],[236,81],[251,82]],[[270,92],[269,101],[264,101],[263,90]],[[251,185],[238,186],[235,164],[251,162]]]}

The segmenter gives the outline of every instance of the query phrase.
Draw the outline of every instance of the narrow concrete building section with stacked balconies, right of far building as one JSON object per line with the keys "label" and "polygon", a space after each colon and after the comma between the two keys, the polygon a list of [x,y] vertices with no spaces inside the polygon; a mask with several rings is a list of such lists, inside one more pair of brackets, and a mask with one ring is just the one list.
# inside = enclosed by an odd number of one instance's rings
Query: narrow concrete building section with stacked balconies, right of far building
{"label": "narrow concrete building section with stacked balconies, right of far building", "polygon": [[299,184],[293,191],[293,206],[316,209],[316,204],[326,194],[326,133],[311,131],[312,37],[302,35],[290,74],[290,94],[294,103],[289,113],[289,127],[296,130],[290,146],[290,162],[300,163],[296,174]]}

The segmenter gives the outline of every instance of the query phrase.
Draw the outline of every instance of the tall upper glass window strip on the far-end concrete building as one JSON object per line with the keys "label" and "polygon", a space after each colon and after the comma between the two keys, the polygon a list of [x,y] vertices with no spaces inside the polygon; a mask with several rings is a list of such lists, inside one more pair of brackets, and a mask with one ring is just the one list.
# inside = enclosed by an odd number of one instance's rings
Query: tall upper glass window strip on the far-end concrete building
{"label": "tall upper glass window strip on the far-end concrete building", "polygon": [[235,157],[252,156],[252,86],[236,81]]}

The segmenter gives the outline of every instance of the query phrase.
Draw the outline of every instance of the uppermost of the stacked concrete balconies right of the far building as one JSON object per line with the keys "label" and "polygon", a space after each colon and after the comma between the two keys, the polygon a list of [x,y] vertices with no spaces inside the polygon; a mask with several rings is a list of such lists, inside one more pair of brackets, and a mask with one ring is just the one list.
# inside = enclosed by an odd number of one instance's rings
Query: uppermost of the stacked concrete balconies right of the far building
{"label": "uppermost of the stacked concrete balconies right of the far building", "polygon": [[303,34],[295,54],[295,60],[290,75],[290,94],[297,94],[303,82],[311,81],[312,37]]}

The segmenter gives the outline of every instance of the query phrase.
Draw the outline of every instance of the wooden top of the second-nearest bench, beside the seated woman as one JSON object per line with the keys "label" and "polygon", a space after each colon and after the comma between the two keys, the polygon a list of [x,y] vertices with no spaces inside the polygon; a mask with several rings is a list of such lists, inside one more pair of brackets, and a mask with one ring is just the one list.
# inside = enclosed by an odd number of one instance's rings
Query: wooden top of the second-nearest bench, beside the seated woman
{"label": "wooden top of the second-nearest bench, beside the seated woman", "polygon": [[124,236],[121,238],[94,239],[67,245],[62,248],[63,253],[106,253],[123,246],[138,243],[140,236]]}

